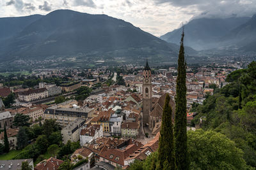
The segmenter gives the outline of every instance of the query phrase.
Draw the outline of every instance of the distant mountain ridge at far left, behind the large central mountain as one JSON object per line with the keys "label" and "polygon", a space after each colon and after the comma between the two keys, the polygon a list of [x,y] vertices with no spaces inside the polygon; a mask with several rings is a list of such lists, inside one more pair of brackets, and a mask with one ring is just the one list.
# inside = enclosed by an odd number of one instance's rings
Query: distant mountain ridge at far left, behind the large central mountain
{"label": "distant mountain ridge at far left, behind the large central mountain", "polygon": [[40,19],[42,15],[30,15],[28,17],[6,17],[0,18],[0,43],[12,38],[26,26]]}

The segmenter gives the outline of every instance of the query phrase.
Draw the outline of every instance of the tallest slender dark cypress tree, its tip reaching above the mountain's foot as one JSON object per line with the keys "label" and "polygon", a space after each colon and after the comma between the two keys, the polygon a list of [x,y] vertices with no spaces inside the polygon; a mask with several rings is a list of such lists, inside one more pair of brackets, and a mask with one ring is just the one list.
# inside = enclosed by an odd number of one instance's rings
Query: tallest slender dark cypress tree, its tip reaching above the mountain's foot
{"label": "tallest slender dark cypress tree, its tip reaching above the mountain's foot", "polygon": [[175,98],[175,162],[177,169],[189,169],[188,143],[187,143],[187,118],[186,118],[186,63],[184,59],[184,28],[180,40],[178,59],[178,76]]}

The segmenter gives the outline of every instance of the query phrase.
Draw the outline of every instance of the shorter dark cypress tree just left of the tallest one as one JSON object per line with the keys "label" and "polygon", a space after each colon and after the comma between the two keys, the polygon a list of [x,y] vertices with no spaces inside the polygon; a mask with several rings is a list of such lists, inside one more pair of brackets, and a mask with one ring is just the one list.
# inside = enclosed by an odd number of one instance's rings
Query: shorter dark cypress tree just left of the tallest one
{"label": "shorter dark cypress tree just left of the tallest one", "polygon": [[175,169],[175,154],[173,143],[172,108],[170,96],[166,94],[163,108],[162,125],[159,137],[157,169]]}

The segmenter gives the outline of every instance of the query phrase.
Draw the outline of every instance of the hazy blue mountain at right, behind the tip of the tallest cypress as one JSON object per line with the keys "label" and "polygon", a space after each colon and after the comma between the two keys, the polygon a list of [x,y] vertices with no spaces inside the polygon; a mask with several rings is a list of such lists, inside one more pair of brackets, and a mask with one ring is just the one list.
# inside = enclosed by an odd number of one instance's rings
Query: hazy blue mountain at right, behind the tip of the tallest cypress
{"label": "hazy blue mountain at right, behind the tip of the tallest cypress", "polygon": [[[184,25],[186,36],[184,44],[196,50],[216,48],[223,36],[248,20],[250,20],[250,17],[198,18],[191,20]],[[180,27],[164,34],[160,38],[170,43],[178,43],[181,32],[182,28]]]}

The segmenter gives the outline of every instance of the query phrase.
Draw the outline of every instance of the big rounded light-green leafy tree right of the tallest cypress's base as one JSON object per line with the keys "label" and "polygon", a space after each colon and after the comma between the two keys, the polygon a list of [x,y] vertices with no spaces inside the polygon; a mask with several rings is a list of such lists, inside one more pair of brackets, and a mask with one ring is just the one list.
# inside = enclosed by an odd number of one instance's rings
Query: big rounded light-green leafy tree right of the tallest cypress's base
{"label": "big rounded light-green leafy tree right of the tallest cypress's base", "polygon": [[191,169],[246,169],[243,152],[234,141],[214,131],[188,132]]}

